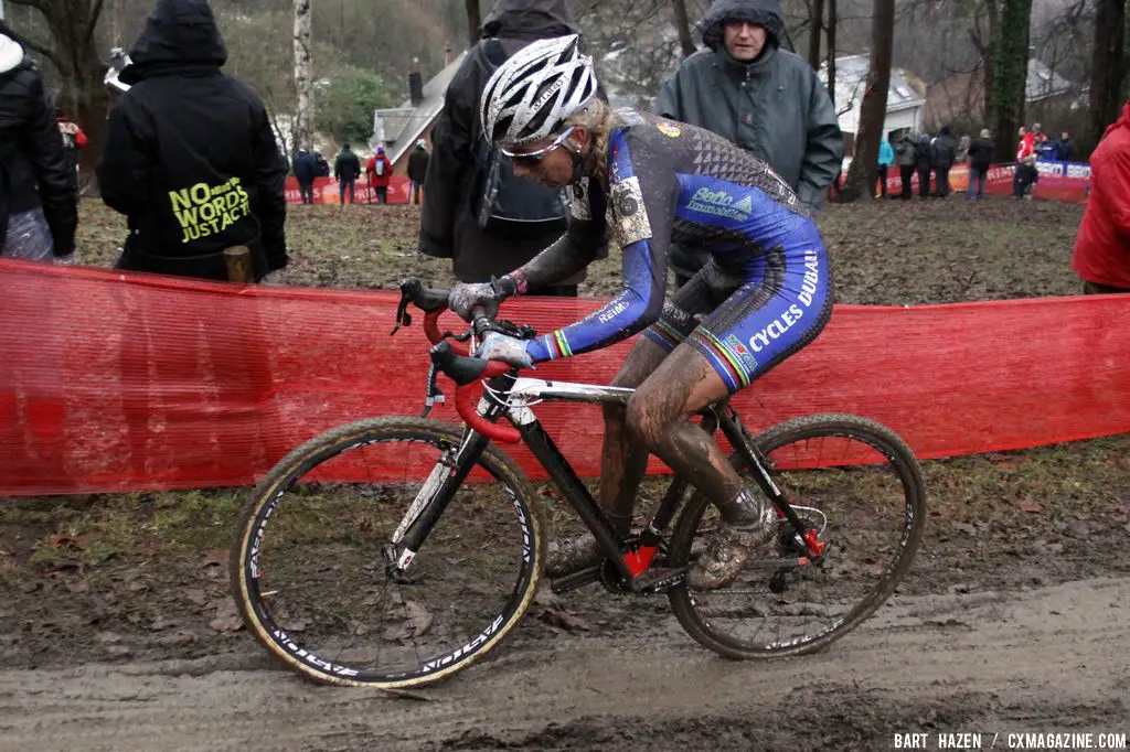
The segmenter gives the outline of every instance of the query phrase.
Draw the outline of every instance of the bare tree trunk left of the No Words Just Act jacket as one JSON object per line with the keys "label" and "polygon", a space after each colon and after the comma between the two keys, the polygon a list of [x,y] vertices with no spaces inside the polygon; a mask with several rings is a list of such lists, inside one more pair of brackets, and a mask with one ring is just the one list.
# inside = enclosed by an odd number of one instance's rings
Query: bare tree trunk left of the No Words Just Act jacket
{"label": "bare tree trunk left of the No Words Just Act jacket", "polygon": [[104,0],[21,0],[18,5],[38,10],[51,33],[50,46],[28,38],[25,43],[59,71],[62,90],[58,104],[87,134],[87,146],[79,154],[79,169],[82,180],[88,181],[86,193],[97,194],[94,167],[102,159],[110,111],[110,93],[103,84],[106,65],[94,34]]}

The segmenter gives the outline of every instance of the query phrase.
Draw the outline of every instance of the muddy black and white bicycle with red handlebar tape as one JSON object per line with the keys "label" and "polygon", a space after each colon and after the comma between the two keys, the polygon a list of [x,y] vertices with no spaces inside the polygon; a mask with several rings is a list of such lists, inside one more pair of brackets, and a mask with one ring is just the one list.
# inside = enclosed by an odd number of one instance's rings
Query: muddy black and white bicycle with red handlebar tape
{"label": "muddy black and white bicycle with red handlebar tape", "polygon": [[443,400],[443,374],[458,385],[466,426],[389,417],[331,429],[284,457],[241,517],[233,596],[249,631],[299,674],[428,684],[487,655],[519,623],[541,578],[545,511],[492,441],[524,443],[607,553],[601,566],[555,580],[555,592],[600,583],[666,594],[687,633],[729,658],[822,649],[871,615],[910,569],[925,495],[898,436],[863,418],[817,414],[750,437],[723,402],[702,412],[702,425],[721,432],[739,471],[773,501],[779,535],[729,587],[688,588],[684,576],[718,523],[707,499],[676,476],[651,521],[618,537],[532,410],[626,403],[632,390],[528,378],[467,357],[460,342],[473,347],[487,331],[534,332],[479,311],[468,331],[441,333],[447,291],[419,280],[401,286],[398,327],[411,323],[409,304],[425,313],[433,342],[425,416]]}

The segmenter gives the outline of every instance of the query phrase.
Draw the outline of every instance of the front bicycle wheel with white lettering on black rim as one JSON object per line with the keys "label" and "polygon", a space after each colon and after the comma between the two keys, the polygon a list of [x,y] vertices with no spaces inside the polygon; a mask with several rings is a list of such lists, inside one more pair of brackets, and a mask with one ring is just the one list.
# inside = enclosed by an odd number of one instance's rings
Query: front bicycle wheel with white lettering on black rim
{"label": "front bicycle wheel with white lettering on black rim", "polygon": [[544,557],[536,492],[510,457],[487,447],[408,578],[389,566],[461,440],[447,423],[379,418],[282,458],[252,491],[231,556],[249,631],[333,684],[419,687],[489,653],[529,607]]}

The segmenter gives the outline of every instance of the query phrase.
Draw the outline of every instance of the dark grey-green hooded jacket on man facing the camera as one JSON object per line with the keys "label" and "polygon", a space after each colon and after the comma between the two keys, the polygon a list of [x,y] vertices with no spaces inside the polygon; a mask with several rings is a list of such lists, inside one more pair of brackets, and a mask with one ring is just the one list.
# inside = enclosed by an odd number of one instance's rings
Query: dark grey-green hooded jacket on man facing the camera
{"label": "dark grey-green hooded jacket on man facing the camera", "polygon": [[[765,28],[765,50],[753,62],[727,52],[722,26],[729,19]],[[663,85],[657,112],[733,141],[768,163],[801,201],[818,208],[840,172],[843,135],[811,65],[781,49],[780,2],[714,0],[699,30],[707,49],[684,60]]]}

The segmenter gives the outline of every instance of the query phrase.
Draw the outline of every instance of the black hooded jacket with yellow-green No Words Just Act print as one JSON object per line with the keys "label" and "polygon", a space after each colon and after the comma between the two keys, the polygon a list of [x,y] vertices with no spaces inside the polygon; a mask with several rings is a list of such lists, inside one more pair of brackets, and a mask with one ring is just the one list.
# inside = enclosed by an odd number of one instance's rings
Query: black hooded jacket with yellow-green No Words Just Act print
{"label": "black hooded jacket with yellow-green No Words Just Act print", "polygon": [[129,220],[119,268],[223,280],[234,245],[257,279],[285,266],[285,160],[262,102],[220,72],[206,0],[158,0],[130,58],[98,165],[103,201]]}

